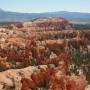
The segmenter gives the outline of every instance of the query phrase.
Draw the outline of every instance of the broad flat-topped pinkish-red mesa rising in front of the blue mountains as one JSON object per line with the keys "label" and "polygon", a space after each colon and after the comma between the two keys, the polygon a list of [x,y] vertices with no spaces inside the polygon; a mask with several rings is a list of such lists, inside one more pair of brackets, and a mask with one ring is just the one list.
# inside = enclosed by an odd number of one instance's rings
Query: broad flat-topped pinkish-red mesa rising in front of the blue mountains
{"label": "broad flat-topped pinkish-red mesa rising in front of the blue mountains", "polygon": [[71,29],[68,20],[61,17],[44,17],[33,20],[32,22],[25,22],[24,27],[31,30],[67,30]]}

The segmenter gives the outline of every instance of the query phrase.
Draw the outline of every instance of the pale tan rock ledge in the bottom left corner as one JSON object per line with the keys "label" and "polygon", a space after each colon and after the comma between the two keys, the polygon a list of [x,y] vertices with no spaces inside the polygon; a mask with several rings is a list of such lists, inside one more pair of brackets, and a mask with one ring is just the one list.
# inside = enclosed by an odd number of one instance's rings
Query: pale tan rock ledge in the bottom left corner
{"label": "pale tan rock ledge in the bottom left corner", "polygon": [[31,74],[37,70],[39,70],[38,67],[29,66],[23,69],[0,72],[0,90],[21,90],[21,79],[23,77],[30,78]]}

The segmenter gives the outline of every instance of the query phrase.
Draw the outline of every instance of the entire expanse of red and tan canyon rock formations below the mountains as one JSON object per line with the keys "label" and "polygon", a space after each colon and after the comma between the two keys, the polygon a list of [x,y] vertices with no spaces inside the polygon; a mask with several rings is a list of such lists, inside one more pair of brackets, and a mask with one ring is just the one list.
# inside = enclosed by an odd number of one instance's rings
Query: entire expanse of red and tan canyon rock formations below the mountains
{"label": "entire expanse of red and tan canyon rock formations below the mountains", "polygon": [[[90,90],[79,70],[89,59],[89,37],[89,31],[73,30],[61,17],[2,25],[0,90]],[[76,69],[77,60],[83,62]]]}

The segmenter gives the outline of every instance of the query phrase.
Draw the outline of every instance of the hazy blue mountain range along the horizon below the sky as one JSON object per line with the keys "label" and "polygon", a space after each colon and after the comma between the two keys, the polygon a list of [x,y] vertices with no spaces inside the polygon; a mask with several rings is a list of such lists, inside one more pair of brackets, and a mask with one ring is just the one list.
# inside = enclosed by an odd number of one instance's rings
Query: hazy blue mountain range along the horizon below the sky
{"label": "hazy blue mountain range along the horizon below the sky", "polygon": [[64,17],[73,23],[90,24],[90,13],[68,11],[45,13],[17,13],[0,9],[0,22],[22,22],[33,20],[39,17]]}

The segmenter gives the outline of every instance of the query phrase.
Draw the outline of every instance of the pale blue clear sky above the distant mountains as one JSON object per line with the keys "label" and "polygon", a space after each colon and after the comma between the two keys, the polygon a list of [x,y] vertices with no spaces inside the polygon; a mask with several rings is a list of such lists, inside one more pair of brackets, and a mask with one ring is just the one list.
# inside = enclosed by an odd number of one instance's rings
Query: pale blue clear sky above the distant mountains
{"label": "pale blue clear sky above the distant mountains", "polygon": [[0,8],[24,13],[55,11],[90,13],[90,0],[0,0]]}

